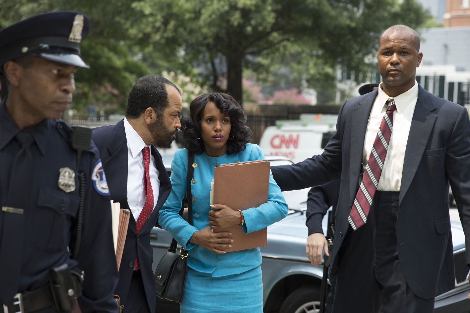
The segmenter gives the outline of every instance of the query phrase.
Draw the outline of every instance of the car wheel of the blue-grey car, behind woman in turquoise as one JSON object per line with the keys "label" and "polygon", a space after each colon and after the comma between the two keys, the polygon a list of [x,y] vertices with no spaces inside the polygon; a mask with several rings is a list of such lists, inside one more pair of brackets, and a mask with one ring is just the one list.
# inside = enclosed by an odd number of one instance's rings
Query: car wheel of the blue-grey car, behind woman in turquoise
{"label": "car wheel of the blue-grey car, behind woman in turquoise", "polygon": [[313,286],[303,286],[294,290],[281,305],[279,313],[318,313],[320,312],[320,290]]}

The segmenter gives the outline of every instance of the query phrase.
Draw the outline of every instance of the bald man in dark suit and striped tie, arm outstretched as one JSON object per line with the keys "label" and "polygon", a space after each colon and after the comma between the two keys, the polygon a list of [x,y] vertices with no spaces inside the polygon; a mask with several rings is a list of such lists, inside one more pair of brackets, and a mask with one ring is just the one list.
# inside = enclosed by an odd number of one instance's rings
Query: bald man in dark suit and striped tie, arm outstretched
{"label": "bald man in dark suit and striped tie, arm outstretched", "polygon": [[345,101],[321,155],[272,168],[282,190],[340,178],[334,313],[434,312],[438,281],[454,288],[449,183],[470,265],[469,115],[416,82],[419,46],[405,25],[385,30],[379,88]]}

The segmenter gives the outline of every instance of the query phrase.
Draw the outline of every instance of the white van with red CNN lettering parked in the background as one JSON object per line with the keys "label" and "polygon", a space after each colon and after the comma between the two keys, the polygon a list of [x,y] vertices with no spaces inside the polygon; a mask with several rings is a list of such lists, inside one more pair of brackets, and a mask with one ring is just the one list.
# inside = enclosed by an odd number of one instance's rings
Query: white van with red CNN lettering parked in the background
{"label": "white van with red CNN lettering parked in the background", "polygon": [[323,152],[336,132],[337,115],[303,114],[299,120],[277,121],[259,141],[265,155],[279,155],[295,163]]}

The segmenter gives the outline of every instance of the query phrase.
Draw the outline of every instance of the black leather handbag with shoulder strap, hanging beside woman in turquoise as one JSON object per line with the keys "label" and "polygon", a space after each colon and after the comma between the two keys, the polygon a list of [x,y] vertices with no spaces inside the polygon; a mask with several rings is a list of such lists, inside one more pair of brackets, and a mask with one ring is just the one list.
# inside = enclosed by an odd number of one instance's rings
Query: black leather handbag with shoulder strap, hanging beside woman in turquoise
{"label": "black leather handbag with shoulder strap, hanging beside woman in turquoise", "polygon": [[[193,206],[191,201],[191,179],[194,172],[193,163],[194,153],[188,152],[188,189],[185,198],[188,199],[188,223],[191,225],[193,223]],[[183,199],[180,210],[181,216],[183,216],[185,202],[185,199]],[[181,303],[183,300],[187,269],[188,251],[180,247],[177,253],[177,242],[175,238],[172,238],[168,252],[166,252],[160,262],[158,262],[157,269],[155,270],[154,277],[157,297]]]}

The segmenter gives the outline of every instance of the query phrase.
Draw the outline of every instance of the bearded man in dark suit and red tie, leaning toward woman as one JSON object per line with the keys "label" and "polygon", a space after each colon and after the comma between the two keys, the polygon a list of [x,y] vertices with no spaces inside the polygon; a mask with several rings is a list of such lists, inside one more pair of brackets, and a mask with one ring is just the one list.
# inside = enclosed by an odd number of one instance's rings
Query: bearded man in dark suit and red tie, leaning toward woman
{"label": "bearded man in dark suit and red tie, leaning toward woman", "polygon": [[93,130],[102,156],[110,198],[131,216],[115,290],[125,313],[155,313],[150,231],[171,191],[157,147],[172,143],[180,127],[180,90],[162,76],[141,77],[127,100],[125,118]]}

